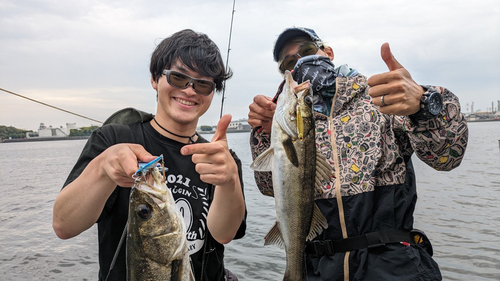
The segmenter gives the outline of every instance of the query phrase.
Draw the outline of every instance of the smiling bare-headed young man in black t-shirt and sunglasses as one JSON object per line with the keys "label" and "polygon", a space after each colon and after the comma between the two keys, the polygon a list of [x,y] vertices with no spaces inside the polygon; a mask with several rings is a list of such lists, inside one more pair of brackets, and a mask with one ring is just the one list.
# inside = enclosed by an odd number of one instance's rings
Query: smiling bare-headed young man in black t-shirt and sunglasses
{"label": "smiling bare-headed young man in black t-shirt and sunglasses", "polygon": [[119,242],[132,175],[138,162],[163,155],[167,186],[183,210],[196,280],[237,280],[223,263],[223,244],[243,237],[246,228],[241,161],[226,139],[231,116],[221,118],[211,142],[196,134],[214,91],[232,73],[215,43],[192,30],[164,39],[152,54],[150,72],[156,115],[104,125],[92,134],[55,201],[54,230],[67,239],[97,222],[99,280],[126,280],[126,243],[120,248]]}

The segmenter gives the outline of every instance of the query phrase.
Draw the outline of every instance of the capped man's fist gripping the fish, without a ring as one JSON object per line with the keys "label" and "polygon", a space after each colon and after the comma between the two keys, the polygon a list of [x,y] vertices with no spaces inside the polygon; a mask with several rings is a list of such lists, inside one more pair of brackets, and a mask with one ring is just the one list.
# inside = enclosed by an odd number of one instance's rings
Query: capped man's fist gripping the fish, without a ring
{"label": "capped man's fist gripping the fish, without a ring", "polygon": [[262,126],[265,133],[271,133],[274,110],[276,109],[276,104],[272,101],[272,98],[257,95],[253,98],[253,103],[250,104],[249,108],[248,124],[252,128]]}

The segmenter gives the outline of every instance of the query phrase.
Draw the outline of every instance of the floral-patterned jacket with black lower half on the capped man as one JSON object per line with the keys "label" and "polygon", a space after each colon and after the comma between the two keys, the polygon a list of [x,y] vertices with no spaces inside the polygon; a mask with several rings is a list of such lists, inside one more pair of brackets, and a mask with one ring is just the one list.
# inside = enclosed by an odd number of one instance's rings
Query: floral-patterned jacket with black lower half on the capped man
{"label": "floral-patterned jacket with black lower half on the capped man", "polygon": [[[315,114],[316,147],[335,175],[316,193],[329,227],[315,240],[413,229],[417,192],[412,154],[436,170],[449,171],[460,165],[468,139],[458,98],[445,88],[429,88],[441,93],[443,110],[413,124],[407,116],[380,113],[365,76],[337,78],[331,116]],[[255,159],[270,146],[270,136],[254,129],[250,146]],[[255,181],[264,195],[273,195],[271,172],[255,172]],[[361,249],[309,255],[308,280],[441,279],[430,255],[418,246],[404,247],[390,245],[377,254]]]}

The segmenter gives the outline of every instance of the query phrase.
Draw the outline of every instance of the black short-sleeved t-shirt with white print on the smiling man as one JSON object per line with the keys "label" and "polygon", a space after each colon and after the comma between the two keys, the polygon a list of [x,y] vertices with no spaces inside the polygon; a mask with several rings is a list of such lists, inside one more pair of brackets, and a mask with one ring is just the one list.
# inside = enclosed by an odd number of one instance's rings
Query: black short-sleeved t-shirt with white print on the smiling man
{"label": "black short-sleeved t-shirt with white print on the smiling man", "polygon": [[[201,136],[197,143],[207,142]],[[80,155],[64,186],[76,179],[87,164],[108,147],[117,143],[138,143],[152,155],[163,154],[166,183],[171,189],[177,208],[184,217],[191,263],[196,280],[224,280],[224,246],[210,235],[206,218],[213,196],[213,185],[200,180],[191,156],[183,156],[180,149],[185,144],[158,133],[151,124],[105,125],[96,130]],[[231,151],[242,180],[241,161]],[[241,181],[243,188],[243,182]],[[111,261],[118,247],[128,217],[130,188],[117,186],[109,197],[99,217],[99,279],[108,274]],[[246,222],[242,222],[235,238],[245,234]],[[108,280],[126,279],[126,243],[123,243],[117,261]],[[205,253],[205,254],[204,254]]]}

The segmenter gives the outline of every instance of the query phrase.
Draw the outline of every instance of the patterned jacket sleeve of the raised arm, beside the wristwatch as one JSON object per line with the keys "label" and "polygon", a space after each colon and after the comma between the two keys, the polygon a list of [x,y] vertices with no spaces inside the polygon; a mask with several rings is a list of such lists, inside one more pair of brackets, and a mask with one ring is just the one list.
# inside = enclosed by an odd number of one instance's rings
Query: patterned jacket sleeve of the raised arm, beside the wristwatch
{"label": "patterned jacket sleeve of the raised arm, beside the wristwatch", "polygon": [[408,116],[396,116],[410,140],[415,154],[427,165],[439,171],[450,171],[460,165],[467,147],[469,130],[460,112],[458,97],[443,87],[429,87],[441,93],[443,109],[434,118],[412,123]]}

